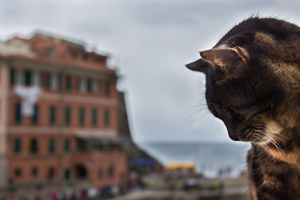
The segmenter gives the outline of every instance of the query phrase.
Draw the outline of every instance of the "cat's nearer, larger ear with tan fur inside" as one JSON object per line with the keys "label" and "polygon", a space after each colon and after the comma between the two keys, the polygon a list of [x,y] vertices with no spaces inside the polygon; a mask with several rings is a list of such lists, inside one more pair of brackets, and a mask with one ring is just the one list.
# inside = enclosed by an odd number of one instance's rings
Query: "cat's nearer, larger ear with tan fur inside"
{"label": "cat's nearer, larger ear with tan fur inside", "polygon": [[249,55],[239,46],[200,52],[202,58],[220,67],[226,76],[237,75],[247,64]]}

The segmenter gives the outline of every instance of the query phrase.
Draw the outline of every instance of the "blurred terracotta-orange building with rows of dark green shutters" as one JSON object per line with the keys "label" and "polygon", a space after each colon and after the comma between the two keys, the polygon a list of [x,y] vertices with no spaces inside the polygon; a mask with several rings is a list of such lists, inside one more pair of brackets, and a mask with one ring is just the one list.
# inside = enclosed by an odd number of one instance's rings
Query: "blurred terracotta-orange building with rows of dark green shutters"
{"label": "blurred terracotta-orange building with rows of dark green shutters", "polygon": [[42,34],[1,42],[1,184],[124,181],[116,79],[107,56],[77,43]]}

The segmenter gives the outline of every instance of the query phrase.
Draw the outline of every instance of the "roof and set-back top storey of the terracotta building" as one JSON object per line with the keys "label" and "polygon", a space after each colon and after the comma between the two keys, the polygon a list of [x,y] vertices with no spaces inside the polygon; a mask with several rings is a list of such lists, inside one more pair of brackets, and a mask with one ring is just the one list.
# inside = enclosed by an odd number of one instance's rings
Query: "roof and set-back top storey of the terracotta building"
{"label": "roof and set-back top storey of the terracotta building", "polygon": [[[50,52],[52,51],[52,52]],[[50,57],[52,53],[52,57]],[[116,74],[107,66],[107,56],[87,52],[85,46],[40,33],[30,39],[14,37],[0,41],[0,57],[67,68]]]}

